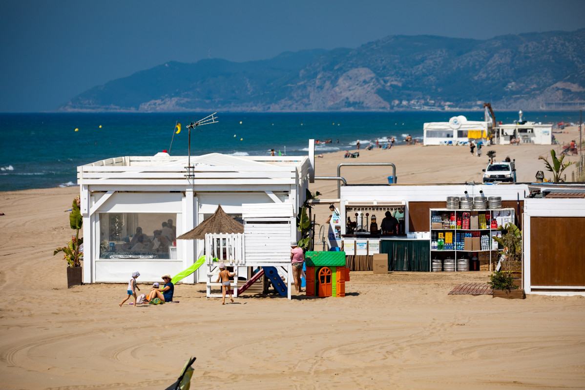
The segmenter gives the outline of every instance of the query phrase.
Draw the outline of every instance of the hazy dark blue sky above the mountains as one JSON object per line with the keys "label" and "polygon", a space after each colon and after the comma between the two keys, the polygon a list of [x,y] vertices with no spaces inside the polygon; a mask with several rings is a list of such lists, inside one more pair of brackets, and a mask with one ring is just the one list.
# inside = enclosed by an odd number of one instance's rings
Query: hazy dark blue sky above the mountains
{"label": "hazy dark blue sky above the mountains", "polygon": [[389,35],[490,39],[585,27],[585,0],[0,2],[0,112],[52,111],[167,61],[243,62]]}

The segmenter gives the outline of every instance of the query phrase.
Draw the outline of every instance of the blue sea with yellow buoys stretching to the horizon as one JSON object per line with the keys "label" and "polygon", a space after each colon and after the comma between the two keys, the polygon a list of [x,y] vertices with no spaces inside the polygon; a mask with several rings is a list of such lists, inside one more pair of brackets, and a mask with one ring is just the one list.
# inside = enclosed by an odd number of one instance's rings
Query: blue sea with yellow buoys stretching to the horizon
{"label": "blue sea with yellow buoys stretching to the horizon", "polygon": [[[0,113],[0,191],[77,185],[77,166],[109,157],[154,156],[169,150],[187,156],[186,126],[209,113]],[[218,123],[191,132],[191,155],[225,153],[269,156],[270,149],[288,156],[308,154],[310,138],[316,153],[366,147],[407,134],[422,140],[425,122],[443,122],[456,115],[483,120],[483,112],[398,113],[217,113]],[[511,123],[515,112],[496,112]],[[535,122],[576,122],[579,113],[524,113]],[[182,125],[179,134],[175,123]],[[78,129],[75,131],[75,129]],[[172,139],[172,146],[171,146]],[[339,141],[339,143],[338,143]]]}

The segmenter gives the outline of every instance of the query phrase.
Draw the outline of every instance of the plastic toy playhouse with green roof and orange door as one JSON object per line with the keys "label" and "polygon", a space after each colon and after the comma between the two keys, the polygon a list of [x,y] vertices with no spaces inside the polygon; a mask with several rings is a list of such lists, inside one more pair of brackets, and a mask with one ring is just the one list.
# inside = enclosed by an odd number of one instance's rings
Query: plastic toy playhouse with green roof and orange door
{"label": "plastic toy playhouse with green roof and orange door", "polygon": [[345,268],[345,252],[305,253],[307,296],[345,296],[349,268]]}

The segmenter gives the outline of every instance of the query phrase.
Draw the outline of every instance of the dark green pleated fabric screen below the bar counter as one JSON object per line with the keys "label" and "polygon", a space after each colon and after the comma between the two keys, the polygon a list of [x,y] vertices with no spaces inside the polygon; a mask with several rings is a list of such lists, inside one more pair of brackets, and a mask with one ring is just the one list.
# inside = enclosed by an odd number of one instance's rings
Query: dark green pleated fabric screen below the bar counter
{"label": "dark green pleated fabric screen below the bar counter", "polygon": [[430,271],[428,240],[380,240],[380,253],[388,254],[388,271]]}

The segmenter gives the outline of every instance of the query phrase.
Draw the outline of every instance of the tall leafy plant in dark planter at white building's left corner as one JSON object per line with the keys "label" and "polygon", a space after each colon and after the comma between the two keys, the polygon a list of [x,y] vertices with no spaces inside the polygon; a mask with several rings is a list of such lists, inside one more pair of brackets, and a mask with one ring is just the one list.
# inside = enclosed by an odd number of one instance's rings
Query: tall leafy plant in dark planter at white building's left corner
{"label": "tall leafy plant in dark planter at white building's left corner", "polygon": [[77,197],[73,199],[71,212],[69,213],[69,224],[71,229],[75,230],[75,236],[71,237],[67,246],[59,247],[53,252],[53,256],[57,253],[63,252],[63,259],[67,260],[67,288],[82,284],[81,261],[83,260],[83,252],[81,247],[83,245],[83,238],[79,236],[82,223],[83,218],[80,211],[80,199]]}

